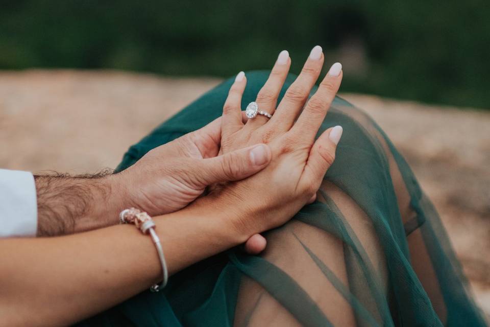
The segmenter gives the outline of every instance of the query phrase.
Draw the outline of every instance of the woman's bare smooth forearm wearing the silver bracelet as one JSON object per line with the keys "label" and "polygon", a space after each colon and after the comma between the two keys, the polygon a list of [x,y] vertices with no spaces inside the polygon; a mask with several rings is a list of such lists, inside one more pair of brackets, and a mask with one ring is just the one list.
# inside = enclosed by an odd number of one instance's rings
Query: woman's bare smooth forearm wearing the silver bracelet
{"label": "woman's bare smooth forearm wearing the silver bracelet", "polygon": [[[196,206],[156,217],[169,273],[246,240],[226,214]],[[233,232],[232,232],[233,231]],[[76,235],[0,240],[0,325],[76,322],[161,280],[151,238],[133,225]]]}

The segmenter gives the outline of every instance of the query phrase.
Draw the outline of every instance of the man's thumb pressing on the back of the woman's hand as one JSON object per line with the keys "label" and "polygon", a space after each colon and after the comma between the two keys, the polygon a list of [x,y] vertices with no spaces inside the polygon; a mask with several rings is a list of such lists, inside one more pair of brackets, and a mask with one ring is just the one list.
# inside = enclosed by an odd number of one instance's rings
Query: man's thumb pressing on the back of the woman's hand
{"label": "man's thumb pressing on the back of the woman's hand", "polygon": [[266,144],[258,144],[236,150],[214,158],[203,159],[196,171],[207,185],[247,178],[271,161],[271,149]]}

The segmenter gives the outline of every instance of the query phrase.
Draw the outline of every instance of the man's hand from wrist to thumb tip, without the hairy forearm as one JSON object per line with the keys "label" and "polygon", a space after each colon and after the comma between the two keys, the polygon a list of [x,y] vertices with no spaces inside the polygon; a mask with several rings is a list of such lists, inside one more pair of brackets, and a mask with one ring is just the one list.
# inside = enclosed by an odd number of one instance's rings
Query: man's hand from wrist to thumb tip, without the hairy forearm
{"label": "man's hand from wrist to thumb tip, without the hairy forearm", "polygon": [[199,197],[207,186],[247,178],[267,166],[264,144],[219,155],[221,118],[144,155],[115,174],[124,206],[156,216],[175,212]]}

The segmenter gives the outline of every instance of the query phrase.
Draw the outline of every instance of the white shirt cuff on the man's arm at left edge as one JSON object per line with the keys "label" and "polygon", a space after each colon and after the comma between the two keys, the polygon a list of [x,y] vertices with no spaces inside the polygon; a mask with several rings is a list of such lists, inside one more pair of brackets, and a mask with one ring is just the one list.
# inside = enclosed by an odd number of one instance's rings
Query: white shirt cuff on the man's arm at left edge
{"label": "white shirt cuff on the man's arm at left edge", "polygon": [[30,172],[0,169],[0,237],[36,236],[36,183]]}

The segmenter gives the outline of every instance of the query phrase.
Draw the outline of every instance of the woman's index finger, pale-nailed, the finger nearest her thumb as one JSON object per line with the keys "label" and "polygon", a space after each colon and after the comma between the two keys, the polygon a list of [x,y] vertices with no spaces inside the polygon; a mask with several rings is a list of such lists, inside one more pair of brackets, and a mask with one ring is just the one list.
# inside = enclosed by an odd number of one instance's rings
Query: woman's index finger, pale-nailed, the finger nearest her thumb
{"label": "woman's index finger, pale-nailed, the finger nearest her thumb", "polygon": [[342,65],[336,62],[330,67],[315,94],[310,98],[295,125],[291,128],[291,131],[297,133],[297,135],[301,135],[300,137],[307,144],[313,142],[337,94],[341,81]]}

